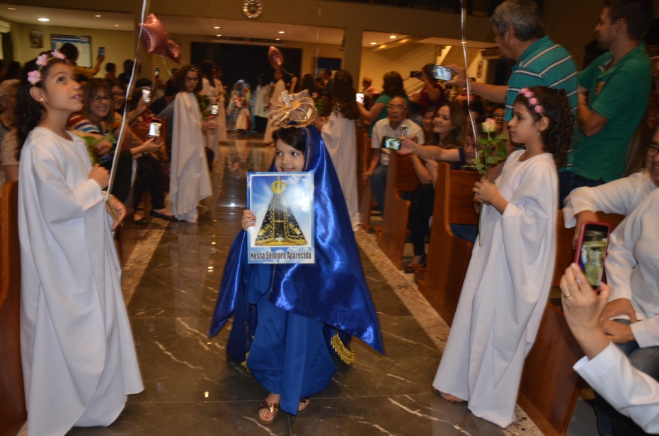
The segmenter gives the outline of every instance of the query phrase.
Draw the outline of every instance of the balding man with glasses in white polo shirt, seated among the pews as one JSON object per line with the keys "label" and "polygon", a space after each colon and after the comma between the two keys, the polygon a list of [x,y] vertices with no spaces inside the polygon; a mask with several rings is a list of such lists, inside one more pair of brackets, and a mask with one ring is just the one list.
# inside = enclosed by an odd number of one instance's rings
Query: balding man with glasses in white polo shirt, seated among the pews
{"label": "balding man with glasses in white polo shirt, seated among the pews", "polygon": [[[372,150],[371,163],[369,169],[362,174],[364,183],[369,178],[371,180],[371,192],[375,203],[378,203],[378,210],[384,217],[384,194],[386,192],[386,170],[389,168],[389,154],[391,150],[382,148],[385,137],[400,139],[402,137],[416,137],[417,144],[424,144],[424,130],[411,119],[406,118],[407,100],[401,95],[395,95],[386,106],[386,118],[380,119],[373,125],[371,135],[371,148],[380,149]],[[407,135],[403,130],[407,129]]]}

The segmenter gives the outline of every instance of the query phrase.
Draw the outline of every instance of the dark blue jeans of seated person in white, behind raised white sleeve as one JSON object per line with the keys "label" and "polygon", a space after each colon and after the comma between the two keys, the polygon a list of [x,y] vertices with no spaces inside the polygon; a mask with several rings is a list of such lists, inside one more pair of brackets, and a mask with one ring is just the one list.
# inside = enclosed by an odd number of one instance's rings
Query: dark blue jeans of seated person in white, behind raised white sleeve
{"label": "dark blue jeans of seated person in white, behind raised white sleeve", "polygon": [[[618,323],[629,325],[628,319],[615,319]],[[632,362],[632,366],[659,381],[659,347],[638,346],[636,341],[618,344],[618,348]],[[595,395],[597,412],[597,430],[603,436],[645,435],[643,430],[629,418],[616,411],[599,394]]]}

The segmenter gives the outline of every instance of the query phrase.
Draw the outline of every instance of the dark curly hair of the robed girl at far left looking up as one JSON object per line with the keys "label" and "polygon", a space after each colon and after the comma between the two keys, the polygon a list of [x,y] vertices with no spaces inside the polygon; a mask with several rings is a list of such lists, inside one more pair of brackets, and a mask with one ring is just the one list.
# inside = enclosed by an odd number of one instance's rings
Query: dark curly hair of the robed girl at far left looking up
{"label": "dark curly hair of the robed girl at far left looking up", "polygon": [[[41,54],[49,54],[48,51],[43,51]],[[47,65],[41,67],[41,80],[32,85],[27,81],[27,73],[30,71],[35,71],[39,67],[36,65],[36,59],[32,59],[23,65],[23,72],[21,73],[21,87],[19,87],[19,92],[16,94],[17,106],[16,113],[18,114],[18,122],[16,126],[19,128],[19,144],[23,147],[27,135],[32,132],[32,130],[41,122],[41,119],[46,115],[46,108],[43,104],[37,102],[30,95],[30,88],[37,87],[43,89],[45,80],[48,78],[48,74],[53,67],[57,64],[67,64],[66,60],[51,58]]]}

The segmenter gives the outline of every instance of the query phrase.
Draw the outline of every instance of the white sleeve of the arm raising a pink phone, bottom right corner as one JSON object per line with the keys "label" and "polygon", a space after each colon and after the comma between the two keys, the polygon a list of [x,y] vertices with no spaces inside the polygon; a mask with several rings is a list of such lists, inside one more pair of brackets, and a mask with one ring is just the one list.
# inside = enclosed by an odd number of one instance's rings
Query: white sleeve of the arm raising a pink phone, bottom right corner
{"label": "white sleeve of the arm raising a pink phone, bottom right corner", "polygon": [[614,409],[647,433],[659,433],[659,383],[634,368],[618,347],[610,343],[592,360],[583,357],[574,368]]}

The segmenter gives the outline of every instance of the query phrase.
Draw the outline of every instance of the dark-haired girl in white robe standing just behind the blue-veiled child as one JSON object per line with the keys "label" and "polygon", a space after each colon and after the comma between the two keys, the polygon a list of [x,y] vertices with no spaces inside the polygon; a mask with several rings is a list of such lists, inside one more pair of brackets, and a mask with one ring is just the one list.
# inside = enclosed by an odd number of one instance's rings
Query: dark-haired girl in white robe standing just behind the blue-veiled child
{"label": "dark-haired girl in white robe standing just behind the blue-veiled child", "polygon": [[334,73],[332,87],[334,108],[327,122],[318,121],[321,137],[343,190],[343,198],[348,207],[352,229],[359,225],[357,208],[357,144],[355,139],[355,119],[359,118],[359,108],[352,87],[352,76],[345,69]]}

